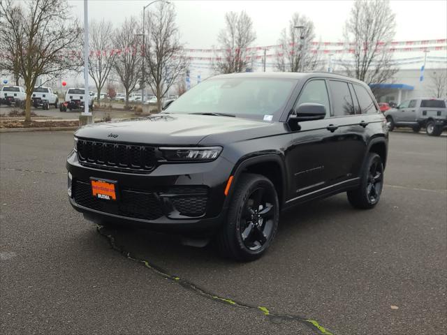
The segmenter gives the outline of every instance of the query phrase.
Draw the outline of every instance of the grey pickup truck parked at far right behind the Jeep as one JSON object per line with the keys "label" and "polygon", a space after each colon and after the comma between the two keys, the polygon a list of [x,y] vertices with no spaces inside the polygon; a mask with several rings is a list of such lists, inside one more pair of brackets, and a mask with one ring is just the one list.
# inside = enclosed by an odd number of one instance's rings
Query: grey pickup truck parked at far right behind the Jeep
{"label": "grey pickup truck parked at far right behind the Jeep", "polygon": [[402,101],[396,108],[385,112],[390,131],[394,128],[412,128],[418,133],[425,128],[427,135],[439,136],[447,128],[446,102],[436,98],[415,98]]}

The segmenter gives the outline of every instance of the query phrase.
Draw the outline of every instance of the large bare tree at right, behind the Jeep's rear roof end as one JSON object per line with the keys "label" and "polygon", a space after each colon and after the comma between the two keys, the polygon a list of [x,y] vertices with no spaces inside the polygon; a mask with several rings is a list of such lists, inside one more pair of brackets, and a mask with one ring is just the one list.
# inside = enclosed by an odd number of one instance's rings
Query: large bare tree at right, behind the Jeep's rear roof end
{"label": "large bare tree at right, behind the Jeep's rear roof end", "polygon": [[344,38],[353,43],[353,64],[346,63],[346,74],[367,84],[389,80],[393,66],[390,42],[395,36],[395,14],[387,0],[356,0],[346,20]]}

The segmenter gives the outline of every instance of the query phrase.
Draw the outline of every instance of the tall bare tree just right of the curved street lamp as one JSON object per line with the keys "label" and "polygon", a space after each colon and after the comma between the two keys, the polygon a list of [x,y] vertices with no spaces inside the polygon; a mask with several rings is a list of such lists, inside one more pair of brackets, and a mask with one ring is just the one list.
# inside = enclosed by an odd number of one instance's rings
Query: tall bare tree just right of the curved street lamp
{"label": "tall bare tree just right of the curved street lamp", "polygon": [[148,75],[145,80],[157,98],[157,110],[160,112],[161,99],[177,78],[186,72],[189,62],[179,41],[173,4],[163,1],[148,15],[149,38],[144,54]]}

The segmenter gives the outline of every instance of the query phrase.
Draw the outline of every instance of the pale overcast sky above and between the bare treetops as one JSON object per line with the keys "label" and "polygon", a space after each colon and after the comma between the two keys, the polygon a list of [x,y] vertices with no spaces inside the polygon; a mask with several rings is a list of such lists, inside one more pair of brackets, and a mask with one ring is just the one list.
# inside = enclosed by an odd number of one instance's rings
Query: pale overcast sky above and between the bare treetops
{"label": "pale overcast sky above and between the bare treetops", "polygon": [[[84,1],[69,0],[73,11],[83,21]],[[89,18],[102,18],[117,26],[124,17],[142,17],[142,7],[149,0],[89,0]],[[255,45],[276,44],[281,30],[294,12],[310,17],[316,27],[316,38],[342,40],[344,22],[353,1],[172,1],[177,11],[177,24],[186,47],[205,48],[216,45],[227,11],[245,10],[254,22]],[[152,6],[155,6],[152,5]],[[151,6],[151,7],[152,7]],[[447,1],[390,1],[396,13],[395,40],[429,40],[447,36]],[[149,7],[150,8],[150,7]]]}

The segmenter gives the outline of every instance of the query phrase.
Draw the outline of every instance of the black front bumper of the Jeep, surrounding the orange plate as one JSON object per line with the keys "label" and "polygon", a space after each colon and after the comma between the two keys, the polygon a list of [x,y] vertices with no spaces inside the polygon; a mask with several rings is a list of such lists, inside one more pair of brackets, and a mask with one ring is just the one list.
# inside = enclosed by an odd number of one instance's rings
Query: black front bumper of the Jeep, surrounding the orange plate
{"label": "black front bumper of the Jeep, surrounding the orange plate", "polygon": [[[66,163],[70,203],[87,219],[152,230],[212,232],[224,221],[224,195],[233,165],[225,158],[209,163],[159,165],[148,174],[86,167],[73,151]],[[90,178],[117,181],[117,202],[91,195]]]}

